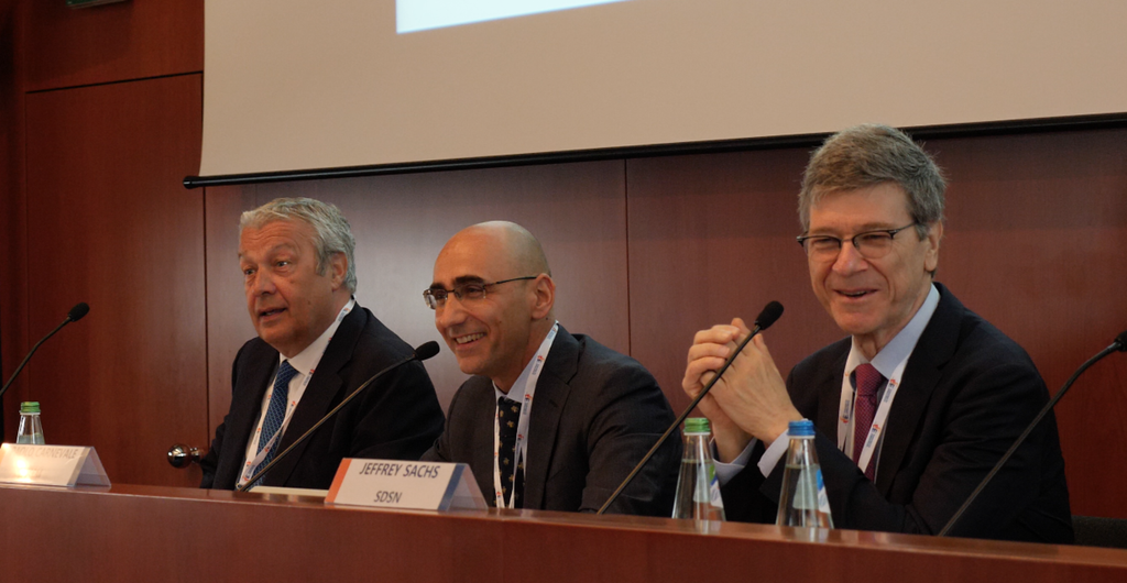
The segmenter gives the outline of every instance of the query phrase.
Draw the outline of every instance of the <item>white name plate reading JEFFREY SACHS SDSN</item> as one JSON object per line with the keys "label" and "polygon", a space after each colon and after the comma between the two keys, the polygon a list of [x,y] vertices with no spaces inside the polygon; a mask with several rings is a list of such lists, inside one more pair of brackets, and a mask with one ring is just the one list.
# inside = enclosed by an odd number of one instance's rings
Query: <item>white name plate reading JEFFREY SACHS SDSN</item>
{"label": "white name plate reading JEFFREY SACHS SDSN", "polygon": [[485,510],[465,464],[345,458],[325,499],[331,504],[411,510]]}

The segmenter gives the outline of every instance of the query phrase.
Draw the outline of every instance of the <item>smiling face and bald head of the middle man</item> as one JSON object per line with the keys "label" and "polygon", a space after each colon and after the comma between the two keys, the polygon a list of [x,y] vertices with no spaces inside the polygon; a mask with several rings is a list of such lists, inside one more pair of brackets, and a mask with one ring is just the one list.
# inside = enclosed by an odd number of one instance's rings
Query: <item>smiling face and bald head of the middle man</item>
{"label": "smiling face and bald head of the middle man", "polygon": [[[508,233],[468,228],[452,237],[434,263],[432,287],[489,284],[534,276],[512,252]],[[479,299],[450,294],[434,313],[434,324],[467,375],[491,378],[508,392],[547,334],[554,285],[547,275],[489,286]]]}

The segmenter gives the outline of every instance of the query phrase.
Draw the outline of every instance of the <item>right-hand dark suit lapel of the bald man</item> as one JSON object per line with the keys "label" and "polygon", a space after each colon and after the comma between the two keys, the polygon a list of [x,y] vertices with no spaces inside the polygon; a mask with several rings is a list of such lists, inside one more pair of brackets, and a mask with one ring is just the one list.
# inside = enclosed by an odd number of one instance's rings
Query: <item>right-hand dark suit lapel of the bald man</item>
{"label": "right-hand dark suit lapel of the bald man", "polygon": [[[556,434],[579,362],[579,342],[560,326],[536,382],[529,419],[529,459],[524,465],[524,508],[540,509],[556,450]],[[490,460],[491,464],[491,460]]]}

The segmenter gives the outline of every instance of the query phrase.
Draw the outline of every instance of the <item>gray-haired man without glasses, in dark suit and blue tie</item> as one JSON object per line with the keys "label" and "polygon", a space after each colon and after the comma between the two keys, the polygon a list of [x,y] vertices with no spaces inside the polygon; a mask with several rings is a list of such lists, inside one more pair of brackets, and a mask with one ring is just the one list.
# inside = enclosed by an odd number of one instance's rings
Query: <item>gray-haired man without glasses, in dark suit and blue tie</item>
{"label": "gray-haired man without glasses, in dark suit and blue tie", "polygon": [[412,349],[356,303],[356,240],[336,206],[278,198],[242,214],[239,266],[258,338],[234,358],[231,410],[201,461],[202,487],[326,490],[346,457],[418,459],[443,415],[419,361],[373,383],[281,459],[326,413]]}

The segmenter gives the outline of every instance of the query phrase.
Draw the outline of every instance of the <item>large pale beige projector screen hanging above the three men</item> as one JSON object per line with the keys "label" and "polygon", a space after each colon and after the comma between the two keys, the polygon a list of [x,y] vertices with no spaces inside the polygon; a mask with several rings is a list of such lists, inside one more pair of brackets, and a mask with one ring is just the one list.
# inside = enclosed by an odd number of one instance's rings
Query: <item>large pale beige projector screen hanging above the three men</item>
{"label": "large pale beige projector screen hanging above the three men", "polygon": [[201,176],[1127,113],[1122,0],[428,3],[207,0]]}

